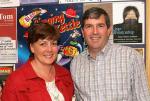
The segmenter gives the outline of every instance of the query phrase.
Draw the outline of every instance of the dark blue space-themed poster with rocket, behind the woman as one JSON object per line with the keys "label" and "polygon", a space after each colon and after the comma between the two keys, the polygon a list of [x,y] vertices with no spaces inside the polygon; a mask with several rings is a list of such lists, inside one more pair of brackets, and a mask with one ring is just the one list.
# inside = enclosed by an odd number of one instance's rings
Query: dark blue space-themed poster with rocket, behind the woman
{"label": "dark blue space-themed poster with rocket, behind the woman", "polygon": [[55,25],[60,33],[60,50],[57,63],[69,69],[70,61],[83,51],[81,35],[82,4],[43,4],[25,5],[18,8],[18,57],[16,67],[29,58],[26,40],[28,28],[38,22],[48,22]]}

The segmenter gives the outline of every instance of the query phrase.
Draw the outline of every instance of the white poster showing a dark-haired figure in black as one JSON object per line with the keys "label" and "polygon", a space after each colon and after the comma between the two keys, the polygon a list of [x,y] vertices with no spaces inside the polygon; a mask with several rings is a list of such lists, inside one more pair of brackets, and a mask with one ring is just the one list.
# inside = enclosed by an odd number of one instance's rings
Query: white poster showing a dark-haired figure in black
{"label": "white poster showing a dark-haired figure in black", "polygon": [[144,2],[113,3],[113,42],[120,44],[145,43]]}

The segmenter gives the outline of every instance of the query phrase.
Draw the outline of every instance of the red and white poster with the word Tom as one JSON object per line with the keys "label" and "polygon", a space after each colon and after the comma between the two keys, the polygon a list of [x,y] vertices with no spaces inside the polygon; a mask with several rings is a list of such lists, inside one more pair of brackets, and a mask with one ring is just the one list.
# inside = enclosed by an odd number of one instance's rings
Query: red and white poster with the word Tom
{"label": "red and white poster with the word Tom", "polygon": [[0,8],[0,63],[17,63],[17,9]]}

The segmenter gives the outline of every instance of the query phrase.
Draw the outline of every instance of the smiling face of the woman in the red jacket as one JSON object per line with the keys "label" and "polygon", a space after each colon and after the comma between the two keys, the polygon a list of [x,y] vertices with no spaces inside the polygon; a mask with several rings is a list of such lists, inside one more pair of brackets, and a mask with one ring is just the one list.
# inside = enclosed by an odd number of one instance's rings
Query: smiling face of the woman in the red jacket
{"label": "smiling face of the woman in the red jacket", "polygon": [[41,64],[52,64],[57,57],[58,46],[57,41],[49,39],[39,39],[33,44],[30,44],[31,52],[34,54],[34,59]]}

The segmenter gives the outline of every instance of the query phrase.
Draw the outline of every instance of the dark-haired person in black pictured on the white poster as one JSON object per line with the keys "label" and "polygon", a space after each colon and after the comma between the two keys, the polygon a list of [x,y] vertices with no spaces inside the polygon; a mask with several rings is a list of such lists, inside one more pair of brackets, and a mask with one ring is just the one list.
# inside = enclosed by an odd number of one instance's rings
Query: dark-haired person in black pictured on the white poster
{"label": "dark-haired person in black pictured on the white poster", "polygon": [[123,11],[123,23],[113,26],[115,43],[141,43],[142,23],[139,23],[139,11],[135,6],[127,6]]}

